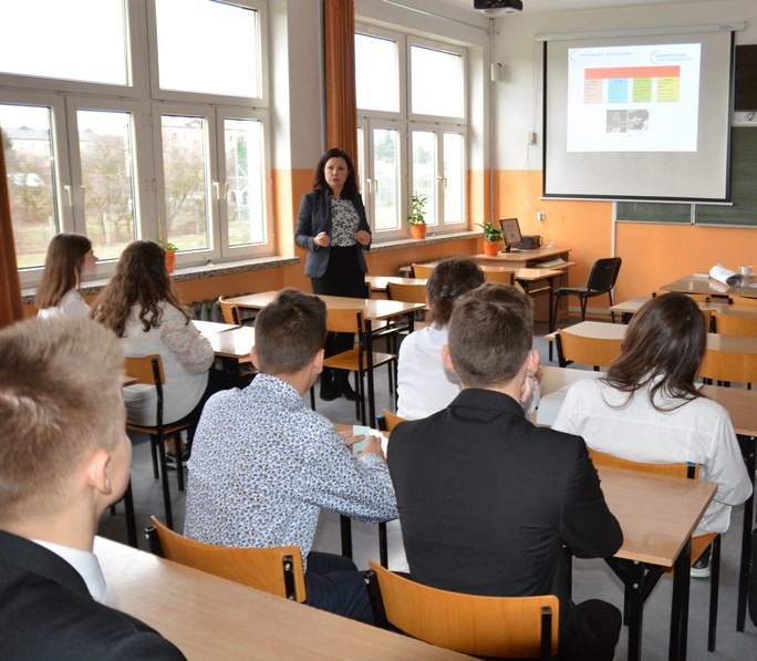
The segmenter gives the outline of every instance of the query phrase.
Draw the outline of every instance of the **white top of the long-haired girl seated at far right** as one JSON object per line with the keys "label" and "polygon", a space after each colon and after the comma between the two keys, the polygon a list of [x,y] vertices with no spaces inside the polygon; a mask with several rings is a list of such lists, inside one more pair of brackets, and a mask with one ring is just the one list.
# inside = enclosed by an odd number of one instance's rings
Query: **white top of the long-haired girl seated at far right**
{"label": "white top of the long-haired girl seated at far right", "polygon": [[[583,436],[589,447],[632,462],[699,464],[699,478],[717,483],[717,493],[696,534],[725,533],[730,506],[740,505],[751,494],[728,412],[706,397],[659,411],[650,402],[650,386],[637,390],[626,406],[618,407],[628,393],[601,379],[577,381],[552,428]],[[660,396],[655,401],[666,409],[681,402]]]}

